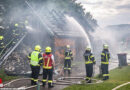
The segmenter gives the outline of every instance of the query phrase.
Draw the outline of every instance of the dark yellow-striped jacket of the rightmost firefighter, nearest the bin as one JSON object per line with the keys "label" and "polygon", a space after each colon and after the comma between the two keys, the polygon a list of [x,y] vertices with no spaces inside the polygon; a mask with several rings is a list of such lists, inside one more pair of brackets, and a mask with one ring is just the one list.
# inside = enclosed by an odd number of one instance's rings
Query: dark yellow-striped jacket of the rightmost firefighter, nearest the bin
{"label": "dark yellow-striped jacket of the rightmost firefighter, nearest the bin", "polygon": [[108,50],[103,50],[101,53],[101,64],[109,64],[110,53]]}

